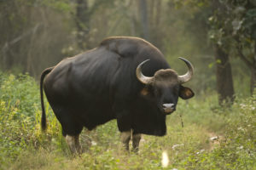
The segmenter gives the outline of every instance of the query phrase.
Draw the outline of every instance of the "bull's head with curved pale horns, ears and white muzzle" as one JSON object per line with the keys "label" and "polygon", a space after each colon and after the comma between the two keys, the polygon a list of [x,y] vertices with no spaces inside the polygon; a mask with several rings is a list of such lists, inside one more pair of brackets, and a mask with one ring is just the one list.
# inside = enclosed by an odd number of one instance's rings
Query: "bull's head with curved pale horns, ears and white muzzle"
{"label": "bull's head with curved pale horns, ears and white muzzle", "polygon": [[154,77],[145,77],[142,72],[142,65],[148,60],[143,61],[137,66],[137,79],[145,84],[141,94],[147,99],[153,100],[161,112],[171,114],[176,110],[178,97],[190,99],[194,96],[190,88],[183,87],[182,84],[188,82],[193,75],[193,65],[187,60],[182,59],[189,67],[189,71],[178,76],[172,69],[159,70],[154,73]]}

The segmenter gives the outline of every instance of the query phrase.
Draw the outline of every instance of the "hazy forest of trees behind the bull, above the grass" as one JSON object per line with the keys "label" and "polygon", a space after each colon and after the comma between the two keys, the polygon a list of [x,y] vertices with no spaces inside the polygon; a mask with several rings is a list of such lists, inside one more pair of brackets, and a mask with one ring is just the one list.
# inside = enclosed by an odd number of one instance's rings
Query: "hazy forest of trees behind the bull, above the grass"
{"label": "hazy forest of trees behind the bull, above the grass", "polygon": [[231,98],[255,84],[253,0],[2,0],[0,8],[3,71],[38,78],[106,37],[133,36],[160,48],[180,74],[177,57],[191,60],[196,94],[218,89]]}

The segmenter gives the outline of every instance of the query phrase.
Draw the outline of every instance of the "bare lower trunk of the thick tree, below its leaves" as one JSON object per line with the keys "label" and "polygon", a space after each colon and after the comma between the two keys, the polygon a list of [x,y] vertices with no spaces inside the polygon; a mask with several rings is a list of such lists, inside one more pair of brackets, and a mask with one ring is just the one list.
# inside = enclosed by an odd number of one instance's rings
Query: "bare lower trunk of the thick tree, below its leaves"
{"label": "bare lower trunk of the thick tree, below its leaves", "polygon": [[224,52],[217,44],[214,47],[216,60],[216,79],[218,104],[223,105],[224,102],[232,104],[234,101],[234,87],[231,72],[229,55]]}

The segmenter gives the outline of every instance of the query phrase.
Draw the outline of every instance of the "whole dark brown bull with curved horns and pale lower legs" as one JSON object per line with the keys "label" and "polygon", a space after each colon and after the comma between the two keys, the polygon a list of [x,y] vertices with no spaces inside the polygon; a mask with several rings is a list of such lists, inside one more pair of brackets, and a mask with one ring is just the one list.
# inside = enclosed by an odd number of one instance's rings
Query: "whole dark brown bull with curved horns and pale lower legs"
{"label": "whole dark brown bull with curved horns and pale lower legs", "polygon": [[176,110],[178,97],[194,96],[182,86],[192,77],[193,66],[180,59],[189,67],[183,76],[170,68],[158,48],[137,37],[110,37],[97,48],[63,59],[41,76],[43,129],[44,88],[73,152],[81,151],[83,127],[91,130],[112,119],[117,119],[125,148],[129,150],[132,136],[137,150],[141,133],[166,134],[166,115]]}

